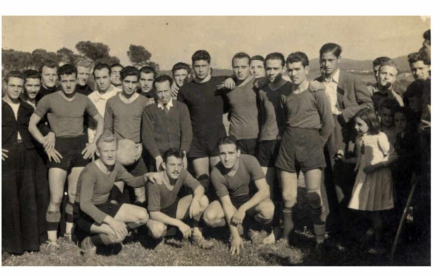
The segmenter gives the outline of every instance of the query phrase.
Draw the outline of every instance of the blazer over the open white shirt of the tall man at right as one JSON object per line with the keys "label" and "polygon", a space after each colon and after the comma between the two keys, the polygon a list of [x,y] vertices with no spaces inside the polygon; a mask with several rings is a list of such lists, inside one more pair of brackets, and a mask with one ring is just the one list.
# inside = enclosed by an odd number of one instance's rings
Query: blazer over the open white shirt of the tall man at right
{"label": "blazer over the open white shirt of the tall man at right", "polygon": [[[373,108],[373,100],[361,78],[339,70],[338,103],[345,122],[349,122],[359,110],[365,107]],[[324,77],[320,76],[316,80],[323,82]]]}

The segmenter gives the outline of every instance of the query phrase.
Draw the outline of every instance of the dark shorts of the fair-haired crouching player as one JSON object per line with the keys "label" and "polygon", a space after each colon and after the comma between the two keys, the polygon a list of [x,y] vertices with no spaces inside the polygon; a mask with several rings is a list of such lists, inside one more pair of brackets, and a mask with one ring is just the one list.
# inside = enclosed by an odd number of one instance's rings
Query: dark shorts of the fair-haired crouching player
{"label": "dark shorts of the fair-haired crouching player", "polygon": [[[115,217],[122,205],[119,203],[113,204],[107,200],[107,202],[95,206],[107,215]],[[95,233],[90,232],[90,227],[95,223],[94,219],[84,213],[76,201],[73,204],[73,223],[75,224],[74,234],[79,241],[82,241],[87,236],[95,235]]]}

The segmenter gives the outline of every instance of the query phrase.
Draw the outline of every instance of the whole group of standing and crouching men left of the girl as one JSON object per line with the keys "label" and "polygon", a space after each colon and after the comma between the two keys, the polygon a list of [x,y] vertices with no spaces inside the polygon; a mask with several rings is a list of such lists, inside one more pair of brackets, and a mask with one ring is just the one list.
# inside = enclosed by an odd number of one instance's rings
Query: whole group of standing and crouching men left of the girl
{"label": "whole group of standing and crouching men left of the girl", "polygon": [[[87,61],[10,72],[2,104],[3,250],[39,250],[46,238],[49,251],[59,249],[65,182],[65,237],[84,252],[121,242],[142,225],[157,247],[167,226],[175,226],[211,248],[201,219],[209,227],[229,225],[233,254],[243,247],[244,230],[256,244],[288,243],[300,171],[321,250],[328,214],[323,169],[332,191],[346,184],[352,118],[374,108],[365,84],[338,68],[341,53],[337,44],[323,45],[322,76],[312,82],[302,52],[286,59],[237,53],[232,77],[211,76],[204,50],[193,54],[192,70],[177,63],[173,77],[156,76],[149,66],[100,63],[91,70]],[[90,73],[95,91],[86,83]],[[117,161],[121,140],[136,145],[132,164]]]}

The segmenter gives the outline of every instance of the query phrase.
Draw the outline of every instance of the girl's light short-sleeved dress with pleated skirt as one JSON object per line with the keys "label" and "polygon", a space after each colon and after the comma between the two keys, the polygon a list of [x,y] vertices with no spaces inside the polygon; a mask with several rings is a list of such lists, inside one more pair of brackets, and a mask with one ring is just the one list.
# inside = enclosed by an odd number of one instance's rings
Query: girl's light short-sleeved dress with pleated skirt
{"label": "girl's light short-sleeved dress with pleated skirt", "polygon": [[388,210],[394,207],[391,170],[381,168],[366,174],[364,168],[381,162],[388,162],[394,148],[385,133],[363,134],[356,138],[358,161],[355,186],[349,208],[364,211]]}

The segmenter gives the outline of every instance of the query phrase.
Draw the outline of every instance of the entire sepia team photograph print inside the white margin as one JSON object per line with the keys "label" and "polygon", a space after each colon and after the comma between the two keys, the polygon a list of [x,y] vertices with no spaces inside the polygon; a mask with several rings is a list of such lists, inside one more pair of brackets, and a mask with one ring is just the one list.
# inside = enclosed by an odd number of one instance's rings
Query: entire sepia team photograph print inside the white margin
{"label": "entire sepia team photograph print inside the white margin", "polygon": [[2,266],[431,266],[429,14],[24,14]]}

